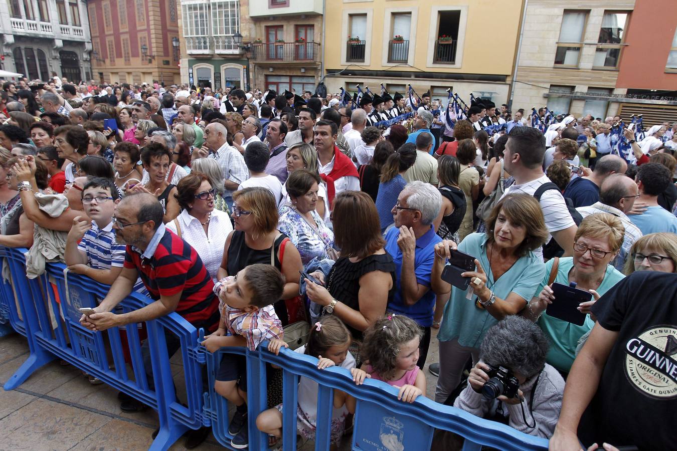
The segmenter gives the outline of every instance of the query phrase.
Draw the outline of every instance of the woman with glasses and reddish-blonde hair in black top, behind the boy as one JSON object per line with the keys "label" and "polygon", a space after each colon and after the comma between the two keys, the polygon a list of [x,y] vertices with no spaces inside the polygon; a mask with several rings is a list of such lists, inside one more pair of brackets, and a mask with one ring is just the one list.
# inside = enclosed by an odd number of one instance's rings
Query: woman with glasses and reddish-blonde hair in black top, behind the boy
{"label": "woman with glasses and reddish-blonde hair in black top, behind the boy", "polygon": [[277,229],[280,216],[273,194],[262,187],[235,191],[231,216],[235,230],[225,240],[218,279],[235,276],[250,264],[274,265],[286,280],[282,300],[274,304],[282,325],[286,326],[290,317],[284,300],[299,294],[299,271],[303,270],[303,264],[297,248]]}

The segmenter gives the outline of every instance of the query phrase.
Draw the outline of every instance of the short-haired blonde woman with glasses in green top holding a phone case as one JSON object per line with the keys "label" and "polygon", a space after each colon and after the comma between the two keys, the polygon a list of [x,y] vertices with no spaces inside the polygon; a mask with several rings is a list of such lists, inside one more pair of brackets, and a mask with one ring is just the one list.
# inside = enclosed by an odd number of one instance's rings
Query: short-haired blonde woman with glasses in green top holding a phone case
{"label": "short-haired blonde woman with glasses in green top holding a phone case", "polygon": [[575,282],[576,288],[592,293],[592,300],[578,307],[581,314],[586,315],[582,326],[553,318],[544,312],[548,304],[557,302],[548,286],[554,259],[546,263],[546,274],[536,290],[540,294],[529,302],[525,316],[537,321],[548,336],[550,350],[547,362],[560,373],[569,373],[579,339],[594,326],[595,318],[590,314],[592,304],[625,277],[610,264],[623,244],[624,233],[623,223],[613,214],[591,214],[586,216],[576,231],[573,257],[559,259],[554,281],[567,286]]}

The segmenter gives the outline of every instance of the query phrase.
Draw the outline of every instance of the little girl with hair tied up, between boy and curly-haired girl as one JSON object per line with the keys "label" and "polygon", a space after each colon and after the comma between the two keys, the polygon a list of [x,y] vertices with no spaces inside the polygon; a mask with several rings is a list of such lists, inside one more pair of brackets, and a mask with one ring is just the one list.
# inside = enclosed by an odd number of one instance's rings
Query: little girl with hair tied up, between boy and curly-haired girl
{"label": "little girl with hair tied up, between boy and curly-haired girl", "polygon": [[[318,369],[329,366],[341,366],[350,371],[353,381],[361,384],[365,377],[364,371],[355,368],[355,358],[348,352],[351,335],[343,322],[336,316],[322,316],[311,327],[308,343],[295,350],[301,354],[318,359]],[[287,343],[280,339],[271,340],[268,350],[279,354],[281,348],[288,348]],[[307,377],[299,378],[299,404],[297,410],[297,431],[305,439],[315,440],[318,411],[318,383]],[[334,390],[334,409],[332,410],[331,443],[332,446],[341,446],[341,437],[345,430],[345,420],[348,410],[345,407],[345,394]],[[256,420],[259,431],[282,437],[282,404],[261,412]]]}

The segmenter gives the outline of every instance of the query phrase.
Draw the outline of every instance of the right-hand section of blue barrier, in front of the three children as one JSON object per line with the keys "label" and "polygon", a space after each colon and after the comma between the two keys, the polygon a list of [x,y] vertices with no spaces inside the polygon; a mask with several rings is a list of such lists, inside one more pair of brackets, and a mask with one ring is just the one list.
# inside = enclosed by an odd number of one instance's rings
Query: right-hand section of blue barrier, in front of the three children
{"label": "right-hand section of blue barrier, in front of the three children", "polygon": [[[202,331],[200,331],[202,337]],[[227,433],[230,417],[227,401],[215,393],[214,377],[221,354],[241,354],[247,360],[249,449],[267,449],[267,436],[256,428],[257,415],[267,408],[265,364],[276,364],[283,372],[282,446],[296,449],[297,387],[299,377],[317,381],[318,429],[315,450],[328,450],[333,391],[340,389],[357,398],[353,429],[353,450],[428,450],[435,429],[452,431],[465,437],[464,450],[492,446],[501,450],[546,450],[548,441],[512,429],[508,425],[475,417],[452,406],[443,406],[419,397],[413,404],[397,400],[397,389],[381,381],[367,379],[355,385],[346,369],[332,366],[318,370],[317,359],[287,349],[276,356],[267,351],[267,341],[259,351],[244,348],[221,348],[206,354],[209,373],[209,394],[205,395],[205,416],[211,418],[212,431],[218,442],[230,448],[232,436]]]}

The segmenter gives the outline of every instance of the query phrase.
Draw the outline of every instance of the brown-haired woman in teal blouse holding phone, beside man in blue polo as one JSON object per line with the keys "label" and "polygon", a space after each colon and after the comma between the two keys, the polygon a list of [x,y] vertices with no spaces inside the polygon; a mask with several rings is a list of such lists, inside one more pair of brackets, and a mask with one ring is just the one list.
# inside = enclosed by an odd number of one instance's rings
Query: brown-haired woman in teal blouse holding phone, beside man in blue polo
{"label": "brown-haired woman in teal blouse holding phone, beside man in blue polo", "polygon": [[487,233],[471,233],[458,250],[475,257],[477,270],[463,272],[471,279],[468,290],[441,279],[454,241],[435,245],[431,285],[438,299],[451,297],[439,328],[439,377],[435,400],[445,402],[461,381],[466,361],[477,363],[487,330],[505,316],[517,314],[536,293],[545,265],[533,250],[543,245],[548,230],[540,204],[530,195],[507,195],[498,201],[486,222]]}

